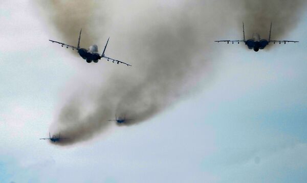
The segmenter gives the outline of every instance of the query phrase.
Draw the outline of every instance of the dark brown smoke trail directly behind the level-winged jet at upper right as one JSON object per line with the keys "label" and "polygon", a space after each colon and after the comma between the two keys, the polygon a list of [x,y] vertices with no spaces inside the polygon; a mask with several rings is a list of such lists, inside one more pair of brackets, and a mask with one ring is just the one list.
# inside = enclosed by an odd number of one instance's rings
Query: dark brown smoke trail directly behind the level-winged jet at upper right
{"label": "dark brown smoke trail directly behind the level-winged jet at upper right", "polygon": [[239,2],[242,2],[243,5],[243,13],[239,17],[245,22],[246,36],[251,37],[253,33],[259,33],[261,38],[268,39],[272,22],[271,38],[275,40],[289,38],[284,36],[297,25],[306,4],[304,0],[239,0]]}

